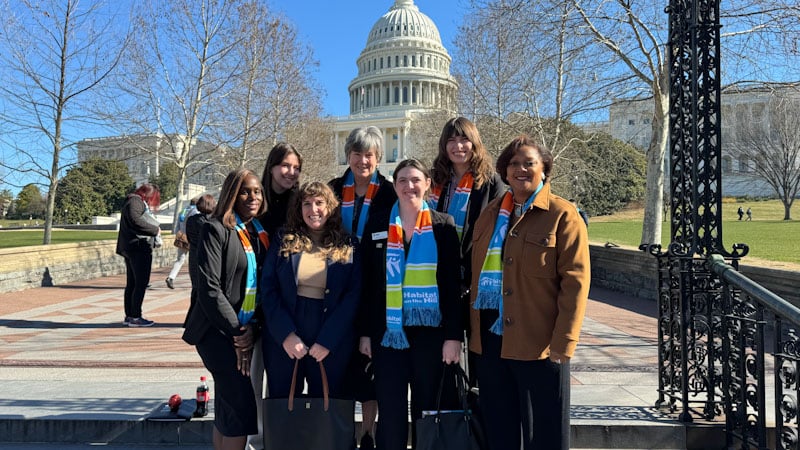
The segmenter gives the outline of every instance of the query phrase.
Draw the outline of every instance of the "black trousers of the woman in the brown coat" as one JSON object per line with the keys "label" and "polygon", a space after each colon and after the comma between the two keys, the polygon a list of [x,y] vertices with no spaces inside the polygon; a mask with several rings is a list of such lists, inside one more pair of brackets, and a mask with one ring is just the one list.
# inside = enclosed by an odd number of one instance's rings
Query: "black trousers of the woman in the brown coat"
{"label": "black trousers of the woman in the brown coat", "polygon": [[489,448],[569,449],[569,362],[504,359],[501,345],[482,330],[478,386]]}

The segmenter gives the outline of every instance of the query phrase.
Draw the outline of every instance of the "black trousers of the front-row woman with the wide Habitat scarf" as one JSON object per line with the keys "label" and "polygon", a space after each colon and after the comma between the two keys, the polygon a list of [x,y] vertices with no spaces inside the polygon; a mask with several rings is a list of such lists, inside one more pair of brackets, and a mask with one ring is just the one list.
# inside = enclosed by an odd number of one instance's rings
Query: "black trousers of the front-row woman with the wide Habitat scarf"
{"label": "black trousers of the front-row woman with the wide Habitat scarf", "polygon": [[[444,330],[431,327],[405,328],[409,348],[396,350],[372,342],[375,394],[378,400],[376,447],[405,450],[408,440],[408,388],[411,386],[411,442],[416,441],[414,422],[422,411],[436,410],[444,363]],[[459,405],[455,377],[445,379],[442,409]]]}

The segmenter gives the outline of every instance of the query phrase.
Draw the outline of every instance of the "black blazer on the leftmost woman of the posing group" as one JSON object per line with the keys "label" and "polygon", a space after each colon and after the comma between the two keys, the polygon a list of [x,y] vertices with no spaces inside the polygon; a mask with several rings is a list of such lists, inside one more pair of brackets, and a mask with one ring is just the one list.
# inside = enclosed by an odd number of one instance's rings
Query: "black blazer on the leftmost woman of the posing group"
{"label": "black blazer on the leftmost woman of the posing group", "polygon": [[[189,307],[183,333],[183,340],[191,345],[200,342],[211,328],[231,338],[242,334],[238,312],[244,301],[247,277],[242,275],[238,285],[234,285],[234,280],[237,271],[241,274],[246,269],[247,258],[239,236],[216,218],[203,226],[201,236],[197,254],[197,298]],[[256,308],[256,315],[260,317],[260,308]]]}

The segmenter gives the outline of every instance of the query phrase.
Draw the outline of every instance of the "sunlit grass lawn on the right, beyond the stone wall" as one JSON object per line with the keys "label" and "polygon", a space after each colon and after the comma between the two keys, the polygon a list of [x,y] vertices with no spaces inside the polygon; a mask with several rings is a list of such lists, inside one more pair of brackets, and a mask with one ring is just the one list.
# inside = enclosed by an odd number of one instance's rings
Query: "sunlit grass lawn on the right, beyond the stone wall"
{"label": "sunlit grass lawn on the right, beyond the stone wall", "polygon": [[[753,220],[738,220],[736,209],[748,206],[753,209]],[[793,213],[794,208],[793,208]],[[592,217],[589,220],[589,240],[605,243],[638,246],[642,236],[642,210],[623,211],[619,214]],[[800,214],[800,211],[795,214]],[[746,217],[746,216],[745,216]],[[777,200],[734,202],[722,204],[722,243],[731,250],[734,243],[747,244],[750,253],[745,257],[800,263],[800,221],[783,219],[783,205]],[[670,223],[664,222],[661,244],[670,241]]]}

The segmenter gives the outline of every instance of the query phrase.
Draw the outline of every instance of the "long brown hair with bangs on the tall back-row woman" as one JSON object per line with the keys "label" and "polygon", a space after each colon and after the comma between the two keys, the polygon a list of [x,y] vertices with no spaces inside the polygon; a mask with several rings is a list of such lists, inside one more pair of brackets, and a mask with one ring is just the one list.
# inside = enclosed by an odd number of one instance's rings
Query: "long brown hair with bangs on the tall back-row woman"
{"label": "long brown hair with bangs on the tall back-row woman", "polygon": [[478,127],[466,117],[454,117],[444,124],[442,134],[439,136],[439,153],[433,160],[433,182],[444,186],[450,181],[453,163],[447,155],[447,141],[456,136],[463,136],[472,142],[472,158],[469,160],[469,166],[472,176],[475,177],[475,188],[479,188],[494,174],[492,158],[483,145]]}

